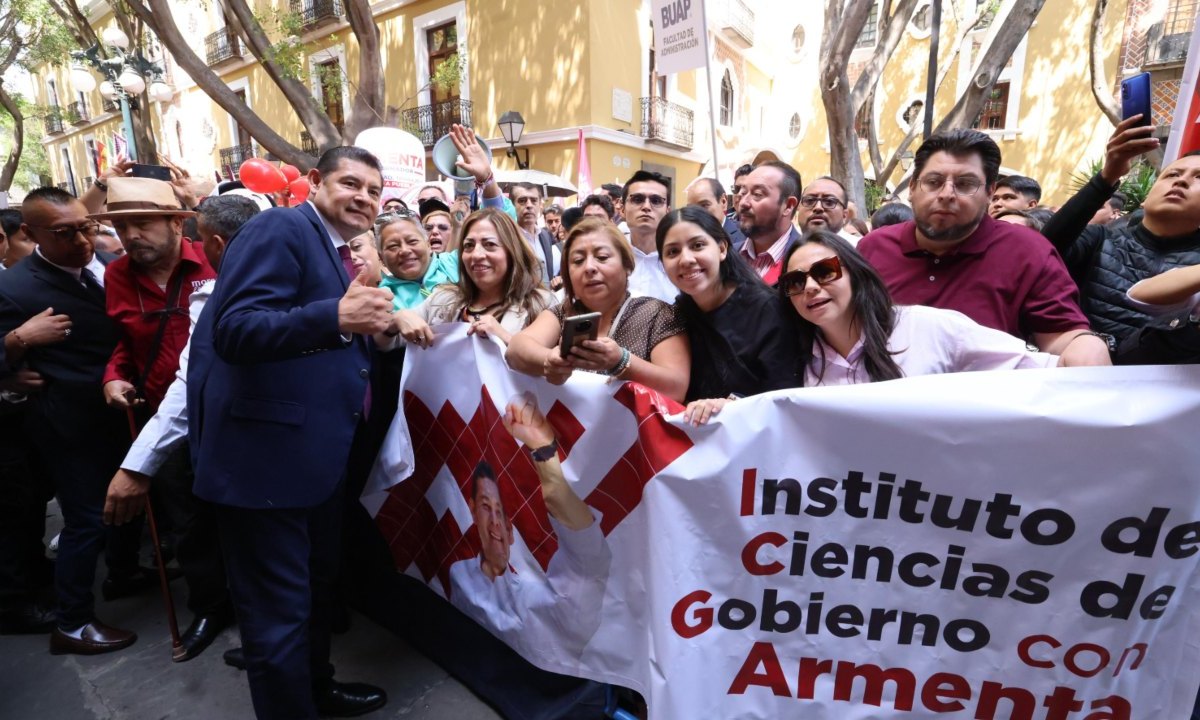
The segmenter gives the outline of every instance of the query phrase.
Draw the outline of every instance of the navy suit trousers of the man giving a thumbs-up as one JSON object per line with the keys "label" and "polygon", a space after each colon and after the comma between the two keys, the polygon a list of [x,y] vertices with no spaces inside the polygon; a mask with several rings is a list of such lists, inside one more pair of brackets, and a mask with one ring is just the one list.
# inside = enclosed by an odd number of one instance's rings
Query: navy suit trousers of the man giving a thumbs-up
{"label": "navy suit trousers of the man giving a thumbs-up", "polygon": [[215,505],[259,720],[317,718],[312,691],[334,677],[330,602],[343,488],[314,508]]}

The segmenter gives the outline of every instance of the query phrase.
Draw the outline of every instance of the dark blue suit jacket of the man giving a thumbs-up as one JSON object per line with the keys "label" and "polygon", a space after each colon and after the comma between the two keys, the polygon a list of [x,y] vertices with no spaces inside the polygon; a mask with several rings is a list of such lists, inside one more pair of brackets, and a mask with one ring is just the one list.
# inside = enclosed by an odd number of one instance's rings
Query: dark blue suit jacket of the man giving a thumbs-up
{"label": "dark blue suit jacket of the man giving a thumbs-up", "polygon": [[188,434],[196,494],[238,508],[311,508],[346,472],[370,374],[343,341],[349,281],[310,204],[247,222],[192,335]]}

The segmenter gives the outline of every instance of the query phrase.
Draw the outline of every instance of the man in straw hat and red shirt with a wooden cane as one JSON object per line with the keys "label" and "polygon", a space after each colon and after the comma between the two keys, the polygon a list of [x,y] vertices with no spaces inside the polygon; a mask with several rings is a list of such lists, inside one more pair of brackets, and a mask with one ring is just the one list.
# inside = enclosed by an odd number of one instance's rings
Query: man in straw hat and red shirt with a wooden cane
{"label": "man in straw hat and red shirt with a wooden cane", "polygon": [[[90,216],[110,222],[126,248],[107,274],[108,314],[120,340],[104,371],[104,400],[134,413],[142,420],[138,427],[157,412],[179,371],[179,355],[191,334],[187,308],[192,290],[216,278],[200,245],[182,234],[184,218],[192,215],[180,206],[169,184],[116,176],[108,181],[104,211]],[[182,636],[184,649],[174,659],[191,660],[233,622],[216,520],[211,509],[192,496],[186,448],[170,454],[142,451],[140,457],[124,464],[114,478],[124,484],[118,491],[144,496],[150,479],[158,478],[166,506],[182,533],[176,552],[194,617]],[[110,571],[103,592],[106,596],[136,592],[137,581],[148,576],[152,580],[149,574],[121,578]]]}

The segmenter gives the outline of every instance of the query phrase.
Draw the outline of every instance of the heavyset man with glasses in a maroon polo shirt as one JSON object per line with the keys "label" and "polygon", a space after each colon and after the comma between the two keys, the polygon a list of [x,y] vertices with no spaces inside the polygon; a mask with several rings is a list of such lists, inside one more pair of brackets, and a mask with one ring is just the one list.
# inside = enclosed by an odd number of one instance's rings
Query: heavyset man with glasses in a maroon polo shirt
{"label": "heavyset man with glasses in a maroon polo shirt", "polygon": [[858,244],[893,301],[956,310],[1061,355],[1061,365],[1110,365],[1108,343],[1088,329],[1079,288],[1050,242],[988,216],[1000,173],[996,143],[955,130],[925,140],[914,161],[914,218]]}

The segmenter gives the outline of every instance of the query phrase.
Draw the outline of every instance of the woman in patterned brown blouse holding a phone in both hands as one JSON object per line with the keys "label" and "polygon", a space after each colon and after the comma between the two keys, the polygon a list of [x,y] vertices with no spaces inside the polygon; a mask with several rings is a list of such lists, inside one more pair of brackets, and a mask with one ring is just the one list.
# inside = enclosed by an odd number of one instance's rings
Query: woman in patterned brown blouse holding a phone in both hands
{"label": "woman in patterned brown blouse holding a phone in both hands", "polygon": [[[690,353],[676,308],[654,298],[631,298],[634,253],[614,224],[584,220],[563,244],[563,304],[544,311],[518,332],[505,359],[518,372],[554,384],[576,370],[634,380],[682,401],[688,390]],[[598,313],[595,340],[563,352],[570,318]]]}

